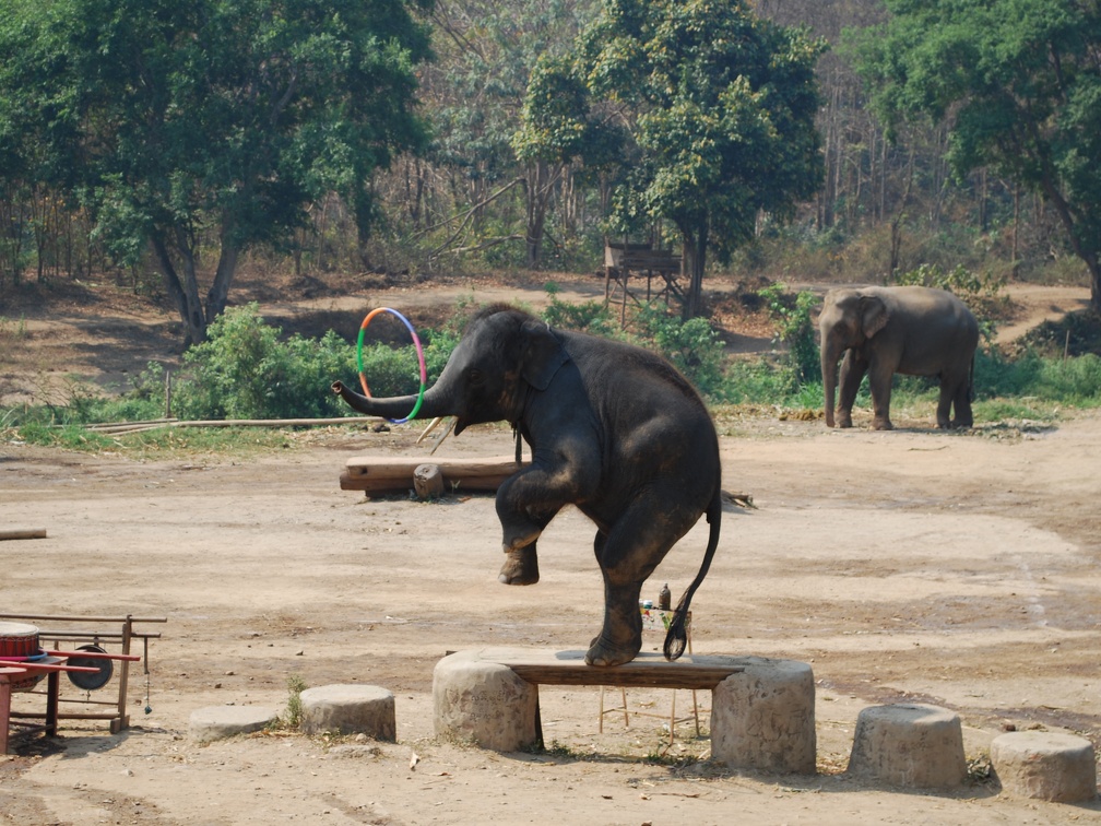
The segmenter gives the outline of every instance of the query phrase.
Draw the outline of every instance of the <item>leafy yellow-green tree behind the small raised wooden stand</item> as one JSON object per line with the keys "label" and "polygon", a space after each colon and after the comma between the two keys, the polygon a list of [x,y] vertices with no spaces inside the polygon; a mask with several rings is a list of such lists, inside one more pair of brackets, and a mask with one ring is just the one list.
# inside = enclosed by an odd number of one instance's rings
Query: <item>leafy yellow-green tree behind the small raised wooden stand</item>
{"label": "leafy yellow-green tree behind the small raised wooden stand", "polygon": [[617,228],[677,227],[691,276],[686,317],[700,311],[710,251],[729,260],[761,213],[789,218],[820,186],[822,48],[742,0],[604,0],[582,33],[593,108],[630,139]]}

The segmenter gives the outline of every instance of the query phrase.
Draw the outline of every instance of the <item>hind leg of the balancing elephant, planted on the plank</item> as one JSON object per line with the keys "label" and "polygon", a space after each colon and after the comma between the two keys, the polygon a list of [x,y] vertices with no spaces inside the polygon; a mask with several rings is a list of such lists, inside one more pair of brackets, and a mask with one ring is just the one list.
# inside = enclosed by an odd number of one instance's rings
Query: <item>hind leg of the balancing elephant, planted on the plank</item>
{"label": "hind leg of the balancing elephant, planted on the plank", "polygon": [[593,547],[604,577],[604,624],[585,661],[590,665],[630,662],[642,649],[639,595],[646,578],[699,519],[700,511],[678,503],[683,491],[651,485]]}

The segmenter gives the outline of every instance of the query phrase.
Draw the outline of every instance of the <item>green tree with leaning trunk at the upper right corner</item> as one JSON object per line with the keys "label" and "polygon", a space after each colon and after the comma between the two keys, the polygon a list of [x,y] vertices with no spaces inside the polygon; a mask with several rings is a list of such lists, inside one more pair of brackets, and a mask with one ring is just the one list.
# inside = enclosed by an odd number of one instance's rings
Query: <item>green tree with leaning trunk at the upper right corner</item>
{"label": "green tree with leaning trunk at the upper right corner", "polygon": [[950,130],[962,176],[991,167],[1040,194],[1090,274],[1101,312],[1101,4],[886,0],[855,39],[883,120]]}

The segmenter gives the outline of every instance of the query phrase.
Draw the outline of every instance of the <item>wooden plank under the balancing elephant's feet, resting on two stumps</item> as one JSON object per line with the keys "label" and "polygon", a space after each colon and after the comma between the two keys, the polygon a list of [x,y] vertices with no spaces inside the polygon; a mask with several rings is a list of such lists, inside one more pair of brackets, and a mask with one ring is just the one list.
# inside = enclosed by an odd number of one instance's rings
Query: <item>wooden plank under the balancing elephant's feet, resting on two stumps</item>
{"label": "wooden plank under the balancing elephant's feet, resting on two stumps", "polygon": [[733,656],[685,654],[672,662],[657,652],[642,652],[623,665],[600,667],[585,664],[584,651],[483,649],[482,662],[504,665],[533,685],[612,685],[625,688],[713,689],[731,674],[745,671]]}

